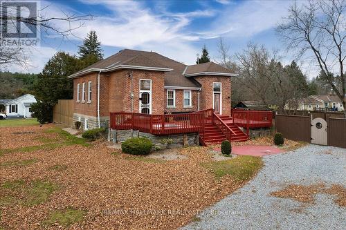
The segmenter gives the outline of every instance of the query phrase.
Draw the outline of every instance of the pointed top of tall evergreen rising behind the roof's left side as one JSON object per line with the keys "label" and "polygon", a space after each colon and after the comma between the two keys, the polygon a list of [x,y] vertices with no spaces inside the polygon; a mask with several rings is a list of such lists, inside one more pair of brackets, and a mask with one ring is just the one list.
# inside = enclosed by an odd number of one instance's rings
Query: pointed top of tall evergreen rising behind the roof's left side
{"label": "pointed top of tall evergreen rising behind the roof's left side", "polygon": [[78,47],[80,48],[78,51],[80,59],[85,59],[89,57],[89,55],[95,55],[98,60],[103,59],[101,43],[98,41],[98,36],[94,30],[91,30],[88,35],[86,35],[86,38],[83,40],[83,45]]}

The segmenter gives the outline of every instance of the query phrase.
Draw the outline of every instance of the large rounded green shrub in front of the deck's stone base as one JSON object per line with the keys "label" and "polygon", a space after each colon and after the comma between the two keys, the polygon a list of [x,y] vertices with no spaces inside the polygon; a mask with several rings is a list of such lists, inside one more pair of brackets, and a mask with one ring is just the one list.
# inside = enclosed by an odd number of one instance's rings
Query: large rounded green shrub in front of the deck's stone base
{"label": "large rounded green shrub in front of the deck's stone base", "polygon": [[152,141],[145,137],[135,137],[122,142],[121,150],[132,155],[147,155],[152,151]]}

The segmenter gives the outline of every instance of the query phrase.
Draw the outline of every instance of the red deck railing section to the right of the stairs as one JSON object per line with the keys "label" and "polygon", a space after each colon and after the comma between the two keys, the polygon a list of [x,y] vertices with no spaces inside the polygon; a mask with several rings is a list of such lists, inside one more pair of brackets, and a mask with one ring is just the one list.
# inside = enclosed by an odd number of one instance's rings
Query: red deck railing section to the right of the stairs
{"label": "red deck railing section to the right of the stairs", "polygon": [[236,126],[246,128],[271,127],[273,123],[273,112],[271,111],[245,111],[243,109],[232,110],[233,123]]}

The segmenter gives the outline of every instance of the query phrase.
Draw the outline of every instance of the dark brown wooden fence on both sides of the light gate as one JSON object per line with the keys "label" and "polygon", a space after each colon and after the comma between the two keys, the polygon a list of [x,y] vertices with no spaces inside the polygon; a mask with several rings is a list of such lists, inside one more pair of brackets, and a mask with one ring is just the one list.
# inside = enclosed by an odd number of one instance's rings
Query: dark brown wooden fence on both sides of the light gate
{"label": "dark brown wooden fence on both sides of the light gate", "polygon": [[[311,116],[275,115],[275,129],[289,140],[311,143]],[[327,117],[326,122],[327,144],[346,148],[346,119]]]}

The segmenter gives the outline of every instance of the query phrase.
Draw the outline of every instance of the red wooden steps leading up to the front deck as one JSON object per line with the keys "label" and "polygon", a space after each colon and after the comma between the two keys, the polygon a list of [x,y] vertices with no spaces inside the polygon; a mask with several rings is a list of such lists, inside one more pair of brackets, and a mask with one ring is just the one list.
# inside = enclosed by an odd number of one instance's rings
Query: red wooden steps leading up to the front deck
{"label": "red wooden steps leading up to the front deck", "polygon": [[[248,137],[245,133],[243,133],[242,130],[238,126],[236,126],[233,123],[232,117],[228,115],[218,115],[227,125],[230,127],[230,129],[235,133],[231,138],[232,142],[244,142],[248,140]],[[207,145],[210,144],[221,144],[224,140],[226,140],[225,135],[217,128],[215,124],[206,124],[205,125],[205,132],[203,136],[203,133],[201,133],[201,139],[204,143]]]}

